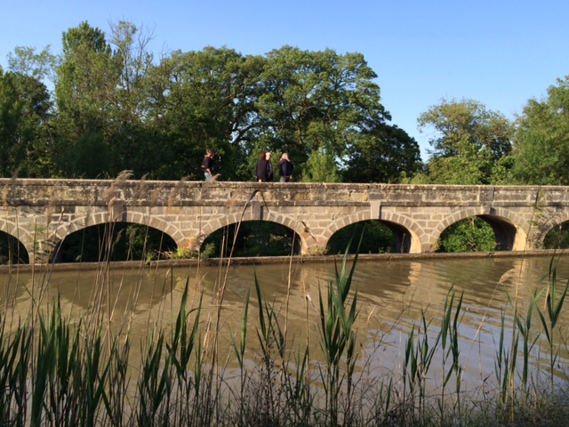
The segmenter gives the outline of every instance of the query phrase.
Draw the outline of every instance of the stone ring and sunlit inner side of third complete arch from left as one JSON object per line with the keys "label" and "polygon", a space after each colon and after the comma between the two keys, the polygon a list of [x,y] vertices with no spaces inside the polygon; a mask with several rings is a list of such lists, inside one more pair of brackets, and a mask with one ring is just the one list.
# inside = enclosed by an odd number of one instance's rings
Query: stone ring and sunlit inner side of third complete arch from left
{"label": "stone ring and sunlit inner side of third complete arch from left", "polygon": [[367,210],[357,212],[356,214],[342,216],[340,219],[332,222],[325,230],[324,236],[326,242],[330,241],[330,238],[332,238],[333,234],[338,230],[356,222],[365,221],[381,222],[383,225],[387,226],[391,232],[393,232],[397,254],[421,253],[421,241],[419,240],[419,236],[423,234],[421,227],[409,218],[395,213],[383,214],[381,220],[371,218],[371,214]]}

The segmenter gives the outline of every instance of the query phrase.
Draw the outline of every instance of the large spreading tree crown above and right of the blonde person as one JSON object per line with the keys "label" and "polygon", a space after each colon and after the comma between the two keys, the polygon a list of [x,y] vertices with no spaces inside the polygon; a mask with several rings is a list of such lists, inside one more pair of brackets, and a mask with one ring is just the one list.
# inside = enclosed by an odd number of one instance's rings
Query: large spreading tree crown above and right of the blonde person
{"label": "large spreading tree crown above and right of the blonde person", "polygon": [[289,152],[300,170],[320,149],[339,161],[391,118],[375,77],[360,53],[290,46],[268,52],[256,103],[257,140],[264,149]]}

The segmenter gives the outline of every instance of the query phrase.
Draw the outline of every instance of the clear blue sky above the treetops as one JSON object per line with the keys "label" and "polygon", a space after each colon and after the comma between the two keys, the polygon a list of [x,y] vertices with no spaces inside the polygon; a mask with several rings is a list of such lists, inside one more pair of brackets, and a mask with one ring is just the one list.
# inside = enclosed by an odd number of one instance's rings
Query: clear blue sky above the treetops
{"label": "clear blue sky above the treetops", "polygon": [[393,124],[426,159],[429,132],[419,133],[417,117],[443,97],[513,118],[569,75],[568,16],[567,0],[0,0],[0,65],[16,46],[59,53],[61,34],[84,20],[103,31],[118,20],[152,28],[156,55],[207,45],[361,52]]}

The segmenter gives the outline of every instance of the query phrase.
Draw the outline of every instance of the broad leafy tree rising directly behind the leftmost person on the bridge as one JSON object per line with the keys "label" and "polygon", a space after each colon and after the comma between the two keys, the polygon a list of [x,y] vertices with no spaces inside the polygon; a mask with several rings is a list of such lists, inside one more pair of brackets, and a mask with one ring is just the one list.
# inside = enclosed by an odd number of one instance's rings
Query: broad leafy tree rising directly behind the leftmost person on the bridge
{"label": "broad leafy tree rising directly behind the leftmost person on the bridge", "polygon": [[172,52],[161,61],[153,72],[149,119],[172,149],[169,168],[201,176],[211,148],[224,180],[244,178],[243,144],[253,138],[261,67],[259,57],[213,47]]}

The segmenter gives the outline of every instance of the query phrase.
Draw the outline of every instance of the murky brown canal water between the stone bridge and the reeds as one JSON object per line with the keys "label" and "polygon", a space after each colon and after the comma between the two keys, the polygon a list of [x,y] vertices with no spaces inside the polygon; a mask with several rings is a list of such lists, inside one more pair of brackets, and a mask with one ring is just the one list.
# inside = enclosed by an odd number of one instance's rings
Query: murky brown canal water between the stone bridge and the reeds
{"label": "murky brown canal water between the stone bridge and the reeds", "polygon": [[[514,312],[517,310],[525,321],[533,296],[548,284],[552,261],[557,269],[557,286],[563,287],[569,278],[566,256],[359,260],[350,294],[351,302],[357,292],[358,366],[370,375],[399,375],[412,328],[417,337],[424,337],[424,319],[429,339],[434,339],[445,301],[454,294],[455,306],[462,295],[458,331],[464,382],[471,387],[493,382],[502,318],[506,326],[505,346],[509,349]],[[325,262],[299,262],[295,258],[229,266],[124,264],[86,269],[76,264],[68,270],[52,271],[20,271],[14,267],[0,272],[0,297],[4,318],[25,318],[36,307],[44,310],[45,304],[59,297],[69,318],[89,316],[96,311],[111,319],[117,331],[128,326],[131,336],[144,342],[149,331],[156,327],[167,330],[172,325],[182,291],[188,286],[188,304],[195,308],[202,301],[202,339],[217,331],[220,357],[227,358],[225,363],[231,366],[234,358],[230,342],[240,334],[248,293],[251,350],[246,355],[252,363],[259,357],[255,345],[259,327],[256,280],[264,302],[276,310],[279,325],[290,342],[288,348],[298,350],[308,344],[317,359],[321,349],[319,293],[325,297],[326,286],[334,283],[336,268],[341,269],[341,257]],[[543,312],[544,294],[538,302]],[[557,324],[557,337],[567,336],[567,310],[569,305]],[[209,328],[208,318],[214,319]],[[206,334],[207,330],[210,332]],[[533,312],[532,336],[536,339],[532,350],[535,367],[541,356],[549,352],[537,312]],[[132,350],[139,348],[136,343],[132,345]],[[564,345],[554,350],[558,352],[557,379],[565,380],[569,353]],[[440,367],[442,358],[442,354],[437,354],[433,366]],[[440,383],[436,374],[431,380],[435,385]]]}

